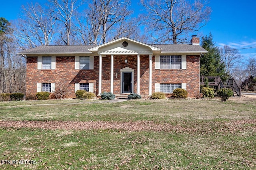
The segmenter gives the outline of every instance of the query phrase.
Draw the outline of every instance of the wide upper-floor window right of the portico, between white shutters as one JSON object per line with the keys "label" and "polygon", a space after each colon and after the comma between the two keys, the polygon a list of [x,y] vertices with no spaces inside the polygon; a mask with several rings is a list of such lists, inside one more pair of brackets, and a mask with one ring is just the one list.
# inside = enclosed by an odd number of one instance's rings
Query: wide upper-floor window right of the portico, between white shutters
{"label": "wide upper-floor window right of the portico, between white shutters", "polygon": [[181,69],[181,55],[161,55],[160,69]]}

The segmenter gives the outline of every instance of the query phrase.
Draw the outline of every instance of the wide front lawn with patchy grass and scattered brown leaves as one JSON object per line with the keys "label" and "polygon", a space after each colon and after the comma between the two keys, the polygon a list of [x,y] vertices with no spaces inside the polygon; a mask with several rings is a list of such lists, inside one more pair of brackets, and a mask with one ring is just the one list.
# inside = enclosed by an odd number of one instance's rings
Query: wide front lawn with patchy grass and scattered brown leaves
{"label": "wide front lawn with patchy grass and scattered brown leaves", "polygon": [[[0,102],[0,169],[256,169],[256,100]],[[32,161],[36,164],[32,164]]]}

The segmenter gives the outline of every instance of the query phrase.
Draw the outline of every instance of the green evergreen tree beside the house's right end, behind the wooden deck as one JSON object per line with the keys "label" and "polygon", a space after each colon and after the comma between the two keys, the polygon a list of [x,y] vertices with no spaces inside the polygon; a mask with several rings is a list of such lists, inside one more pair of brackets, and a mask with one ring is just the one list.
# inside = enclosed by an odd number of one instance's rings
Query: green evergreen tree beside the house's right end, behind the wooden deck
{"label": "green evergreen tree beside the house's right end, behind the wooden deck", "polygon": [[226,81],[229,76],[225,72],[224,63],[221,61],[220,50],[212,40],[212,34],[202,37],[201,42],[201,46],[208,51],[201,57],[201,76],[220,76],[222,81]]}

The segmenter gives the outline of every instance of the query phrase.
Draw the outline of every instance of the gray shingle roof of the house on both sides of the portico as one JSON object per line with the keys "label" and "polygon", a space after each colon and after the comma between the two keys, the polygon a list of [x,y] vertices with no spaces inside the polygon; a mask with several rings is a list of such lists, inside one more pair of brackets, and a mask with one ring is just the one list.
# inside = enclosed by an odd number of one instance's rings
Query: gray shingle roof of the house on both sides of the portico
{"label": "gray shingle roof of the house on both sides of the portico", "polygon": [[[22,51],[18,54],[75,54],[75,53],[91,53],[88,49],[96,47],[97,45],[43,45]],[[162,49],[162,53],[173,52],[202,52],[207,51],[200,45],[190,44],[153,44],[152,46]]]}

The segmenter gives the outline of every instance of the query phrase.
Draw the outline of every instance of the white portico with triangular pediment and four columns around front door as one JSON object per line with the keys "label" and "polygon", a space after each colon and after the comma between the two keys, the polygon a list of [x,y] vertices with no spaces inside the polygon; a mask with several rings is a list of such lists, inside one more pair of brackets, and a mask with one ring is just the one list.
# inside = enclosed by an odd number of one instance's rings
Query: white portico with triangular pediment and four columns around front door
{"label": "white portico with triangular pediment and four columns around front door", "polygon": [[[110,56],[110,92],[115,94],[116,91],[114,91],[114,88],[117,87],[114,87],[114,78],[117,79],[118,75],[120,75],[120,94],[130,94],[134,92],[140,94],[140,77],[145,73],[146,68],[148,72],[148,78],[146,80],[146,82],[148,82],[147,95],[152,95],[152,55],[154,53],[160,53],[160,48],[124,37],[89,50],[99,55],[98,95],[102,93],[102,71],[109,70],[109,68],[102,68],[102,58],[106,56]],[[144,58],[147,58],[148,64],[146,67],[144,63],[142,65],[140,62],[142,55]],[[120,56],[126,56],[127,63],[131,62],[131,59],[134,61],[134,58],[136,58],[136,64],[132,65],[133,68],[128,66],[120,68],[121,65],[114,64],[118,63],[115,62],[116,60],[122,60]],[[124,60],[121,62],[124,62]],[[114,71],[116,70],[114,68],[120,68],[119,73]],[[141,70],[144,70],[144,72]],[[136,77],[136,80],[134,80],[134,77]],[[143,81],[145,82],[145,80]],[[136,86],[134,82],[136,82]]]}

